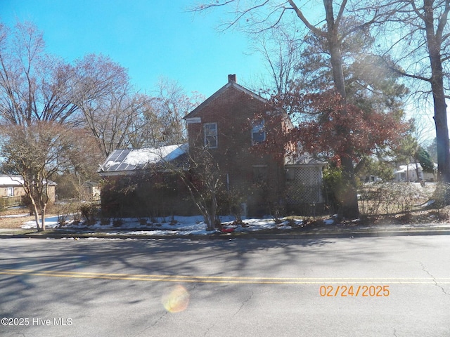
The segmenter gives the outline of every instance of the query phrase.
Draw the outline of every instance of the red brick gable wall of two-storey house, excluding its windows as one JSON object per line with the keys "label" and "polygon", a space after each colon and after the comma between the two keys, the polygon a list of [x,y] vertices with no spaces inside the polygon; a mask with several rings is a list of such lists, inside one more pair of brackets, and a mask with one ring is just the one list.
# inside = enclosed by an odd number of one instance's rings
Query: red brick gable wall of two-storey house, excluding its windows
{"label": "red brick gable wall of two-storey house, excluding its windows", "polygon": [[[267,198],[278,201],[284,190],[283,163],[277,162],[271,154],[251,150],[250,121],[256,114],[266,111],[264,102],[231,86],[195,114],[201,118],[201,123],[188,124],[189,145],[193,150],[204,145],[203,124],[217,123],[218,147],[210,149],[210,153],[219,164],[224,184],[228,174],[231,190],[245,191],[244,201],[253,214],[268,213],[269,210],[264,209]],[[255,186],[253,166],[263,165],[267,167],[267,186],[261,189]]]}

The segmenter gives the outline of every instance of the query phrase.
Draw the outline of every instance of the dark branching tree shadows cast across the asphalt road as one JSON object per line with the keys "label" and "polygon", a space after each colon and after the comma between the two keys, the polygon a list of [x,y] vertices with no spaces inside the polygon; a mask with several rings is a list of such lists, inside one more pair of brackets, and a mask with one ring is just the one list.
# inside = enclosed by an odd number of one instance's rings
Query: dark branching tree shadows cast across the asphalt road
{"label": "dark branching tree shadows cast across the asphalt road", "polygon": [[[0,272],[19,271],[19,275],[0,275],[1,302],[9,308],[4,314],[11,317],[26,312],[30,305],[36,306],[36,300],[66,303],[82,312],[86,305],[96,305],[96,299],[102,296],[114,296],[115,291],[129,293],[136,289],[139,292],[142,288],[142,281],[103,279],[98,276],[100,273],[165,275],[168,279],[170,275],[302,277],[311,268],[311,259],[314,264],[325,265],[330,258],[342,263],[366,258],[362,254],[349,256],[347,252],[333,251],[330,248],[335,242],[335,239],[17,240],[0,248],[0,256],[4,257]],[[292,266],[295,266],[294,275],[290,272]],[[49,271],[77,275],[45,275]],[[37,275],[39,272],[41,275]],[[89,278],[84,278],[84,273],[94,274],[86,274]],[[183,279],[178,283],[183,283]],[[167,287],[167,282],[145,285],[146,289],[158,289],[156,293],[164,286]],[[196,286],[195,280],[191,282],[191,288]],[[216,284],[214,289],[234,291],[226,283]],[[130,297],[131,302],[141,300],[136,296]]]}

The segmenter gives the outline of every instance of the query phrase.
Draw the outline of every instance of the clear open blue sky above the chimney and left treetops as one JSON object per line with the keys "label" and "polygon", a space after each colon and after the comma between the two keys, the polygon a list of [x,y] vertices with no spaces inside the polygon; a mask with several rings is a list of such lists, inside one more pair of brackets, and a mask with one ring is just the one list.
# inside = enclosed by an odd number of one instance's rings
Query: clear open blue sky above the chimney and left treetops
{"label": "clear open blue sky above the chimney and left treetops", "polygon": [[244,34],[219,32],[221,11],[186,11],[197,0],[0,0],[0,20],[34,22],[46,50],[68,62],[102,53],[128,69],[131,83],[151,93],[159,77],[190,94],[211,95],[236,74],[252,82],[264,74]]}

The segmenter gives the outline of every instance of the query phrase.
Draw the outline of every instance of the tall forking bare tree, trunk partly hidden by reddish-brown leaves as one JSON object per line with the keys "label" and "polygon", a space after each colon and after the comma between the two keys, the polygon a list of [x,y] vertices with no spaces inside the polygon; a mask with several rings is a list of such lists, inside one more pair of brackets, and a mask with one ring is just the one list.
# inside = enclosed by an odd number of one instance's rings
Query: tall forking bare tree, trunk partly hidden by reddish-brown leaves
{"label": "tall forking bare tree, trunk partly hidden by reddish-brown leaves", "polygon": [[[326,39],[327,52],[330,55],[330,67],[333,71],[333,86],[335,91],[346,100],[347,91],[345,88],[345,77],[342,62],[342,41],[347,35],[368,27],[376,22],[378,14],[376,10],[368,8],[364,20],[355,21],[355,25],[342,26],[343,18],[347,8],[347,0],[337,1],[323,0],[323,21],[312,22],[307,18],[305,12],[300,6],[300,1],[238,1],[224,0],[212,1],[209,4],[203,4],[193,8],[193,11],[205,11],[210,8],[221,6],[235,6],[235,15],[227,27],[240,25],[250,33],[262,32],[266,29],[283,24],[287,13],[295,13],[309,34]],[[322,22],[323,22],[322,21]],[[346,110],[342,110],[345,114]],[[356,197],[356,180],[354,177],[354,163],[351,153],[340,153],[342,163],[342,175],[346,182],[345,191],[342,193],[342,216],[345,218],[357,218],[359,216],[358,201]]]}

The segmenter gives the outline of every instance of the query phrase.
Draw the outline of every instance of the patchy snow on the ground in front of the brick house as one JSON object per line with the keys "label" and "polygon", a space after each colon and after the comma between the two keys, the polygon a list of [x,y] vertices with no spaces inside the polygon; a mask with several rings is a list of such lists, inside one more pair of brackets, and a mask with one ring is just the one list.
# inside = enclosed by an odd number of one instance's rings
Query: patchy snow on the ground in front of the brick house
{"label": "patchy snow on the ground in front of the brick house", "polygon": [[[158,218],[157,222],[150,222],[148,218],[124,218],[110,220],[109,223],[96,222],[94,225],[85,225],[84,222],[75,224],[68,222],[63,226],[58,224],[58,216],[46,218],[47,228],[60,228],[64,230],[84,230],[117,234],[147,234],[147,235],[202,235],[212,234],[207,231],[201,216],[174,216]],[[255,232],[262,230],[290,230],[302,225],[302,220],[283,218],[281,223],[272,218],[244,218],[242,224],[236,224],[231,216],[220,217],[224,232]],[[27,221],[21,226],[23,229],[36,228],[34,221]]]}

